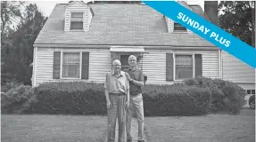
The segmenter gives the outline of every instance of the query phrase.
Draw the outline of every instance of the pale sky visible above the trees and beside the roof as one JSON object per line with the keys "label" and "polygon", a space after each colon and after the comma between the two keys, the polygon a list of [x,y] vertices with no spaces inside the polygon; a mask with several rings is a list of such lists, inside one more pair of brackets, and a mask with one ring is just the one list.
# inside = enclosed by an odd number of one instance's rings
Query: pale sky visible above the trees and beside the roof
{"label": "pale sky visible above the trees and beside the roof", "polygon": [[[48,17],[51,12],[54,10],[55,4],[68,4],[69,1],[31,1],[28,3],[37,4],[38,9],[43,12],[43,14]],[[188,0],[188,4],[199,4],[204,9],[204,1],[203,0]]]}

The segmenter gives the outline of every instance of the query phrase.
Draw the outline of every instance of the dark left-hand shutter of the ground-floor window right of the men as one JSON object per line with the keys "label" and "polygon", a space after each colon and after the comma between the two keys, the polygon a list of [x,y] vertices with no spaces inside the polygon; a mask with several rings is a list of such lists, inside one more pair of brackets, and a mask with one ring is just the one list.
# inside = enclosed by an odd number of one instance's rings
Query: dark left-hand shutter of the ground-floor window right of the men
{"label": "dark left-hand shutter of the ground-floor window right of the men", "polygon": [[173,81],[173,53],[166,54],[166,80]]}

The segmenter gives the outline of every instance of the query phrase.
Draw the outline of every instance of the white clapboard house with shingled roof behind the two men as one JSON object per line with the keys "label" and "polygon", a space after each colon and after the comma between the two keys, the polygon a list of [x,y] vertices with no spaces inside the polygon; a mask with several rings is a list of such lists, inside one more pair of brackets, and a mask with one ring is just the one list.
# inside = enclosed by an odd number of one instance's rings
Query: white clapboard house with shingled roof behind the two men
{"label": "white clapboard house with shingled roof behind the two men", "polygon": [[[186,8],[205,14],[199,5]],[[146,83],[221,78],[221,51],[145,4],[56,4],[34,43],[33,86],[45,82],[103,83],[111,62],[122,69],[135,54]]]}

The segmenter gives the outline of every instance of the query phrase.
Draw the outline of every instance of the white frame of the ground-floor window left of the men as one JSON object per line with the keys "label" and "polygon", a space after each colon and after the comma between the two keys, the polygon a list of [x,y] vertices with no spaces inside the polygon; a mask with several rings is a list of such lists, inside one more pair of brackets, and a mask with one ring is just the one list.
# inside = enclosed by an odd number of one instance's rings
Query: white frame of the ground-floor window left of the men
{"label": "white frame of the ground-floor window left of the men", "polygon": [[[60,79],[81,79],[82,78],[82,51],[61,51],[61,75]],[[63,67],[63,54],[64,53],[78,53],[79,54],[79,77],[62,77],[62,67]]]}

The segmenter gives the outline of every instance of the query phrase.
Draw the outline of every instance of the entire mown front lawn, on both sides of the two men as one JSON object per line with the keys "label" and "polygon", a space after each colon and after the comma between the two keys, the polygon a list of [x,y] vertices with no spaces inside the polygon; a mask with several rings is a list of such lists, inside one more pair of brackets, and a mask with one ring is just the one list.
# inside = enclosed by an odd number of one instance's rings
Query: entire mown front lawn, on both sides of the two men
{"label": "entire mown front lawn, on both sides of the two men", "polygon": [[[106,121],[105,116],[2,114],[1,141],[104,142]],[[255,111],[145,117],[145,135],[147,142],[254,142]]]}

